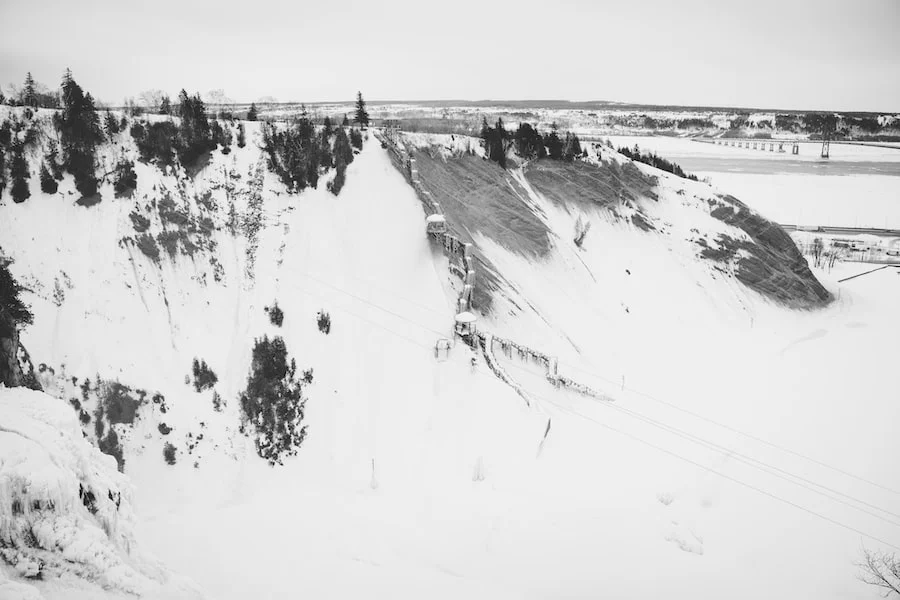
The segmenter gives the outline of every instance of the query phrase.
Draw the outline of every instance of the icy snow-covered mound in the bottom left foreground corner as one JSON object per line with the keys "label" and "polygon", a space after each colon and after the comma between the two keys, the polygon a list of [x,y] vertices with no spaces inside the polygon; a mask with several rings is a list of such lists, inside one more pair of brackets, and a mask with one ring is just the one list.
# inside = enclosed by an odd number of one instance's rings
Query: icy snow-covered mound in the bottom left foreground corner
{"label": "icy snow-covered mound in the bottom left foreground corner", "polygon": [[0,597],[201,597],[139,550],[132,501],[68,406],[0,388]]}

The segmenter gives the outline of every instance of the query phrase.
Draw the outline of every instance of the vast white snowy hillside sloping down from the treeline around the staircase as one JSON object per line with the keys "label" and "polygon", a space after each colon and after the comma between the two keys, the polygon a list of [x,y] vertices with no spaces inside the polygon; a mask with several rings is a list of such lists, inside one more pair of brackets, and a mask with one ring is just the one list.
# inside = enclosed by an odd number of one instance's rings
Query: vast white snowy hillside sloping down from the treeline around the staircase
{"label": "vast white snowy hillside sloping down from the treeline around the staircase", "polygon": [[[480,157],[422,141],[424,185],[483,266],[490,337],[472,348],[453,336],[459,269],[374,136],[339,195],[331,171],[288,194],[245,126],[246,147],[196,173],[136,161],[129,196],[106,183],[80,206],[68,176],[44,194],[33,175],[22,204],[4,192],[0,245],[35,315],[22,341],[59,400],[0,392],[0,443],[7,414],[46,404],[104,482],[133,482],[135,544],[210,598],[866,597],[860,540],[900,543],[894,273],[814,276],[732,220],[749,214],[735,201],[605,150],[608,179],[487,181]],[[127,134],[102,153],[136,156]],[[461,193],[479,178],[481,204]],[[306,439],[281,466],[242,431],[264,335],[309,374]],[[124,476],[88,442],[120,451]],[[162,571],[122,558],[115,531],[110,556],[153,597]],[[84,585],[48,571],[37,589]]]}

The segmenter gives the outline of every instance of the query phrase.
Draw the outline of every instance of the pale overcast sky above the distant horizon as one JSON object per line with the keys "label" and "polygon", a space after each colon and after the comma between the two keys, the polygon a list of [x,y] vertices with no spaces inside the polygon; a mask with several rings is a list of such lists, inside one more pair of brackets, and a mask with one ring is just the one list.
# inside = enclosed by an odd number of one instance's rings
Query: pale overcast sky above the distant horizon
{"label": "pale overcast sky above the distant horizon", "polygon": [[120,104],[569,99],[900,112],[900,0],[0,0],[0,82]]}

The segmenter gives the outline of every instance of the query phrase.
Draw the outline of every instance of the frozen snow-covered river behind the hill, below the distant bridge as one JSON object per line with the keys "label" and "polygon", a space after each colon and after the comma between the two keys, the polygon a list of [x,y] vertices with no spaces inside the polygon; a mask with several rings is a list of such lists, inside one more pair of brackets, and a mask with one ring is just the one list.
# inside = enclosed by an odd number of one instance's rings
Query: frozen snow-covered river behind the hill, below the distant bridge
{"label": "frozen snow-covered river behind the hill, below the distant bridge", "polygon": [[801,143],[791,155],[670,137],[610,136],[652,150],[768,218],[796,225],[900,228],[900,149]]}

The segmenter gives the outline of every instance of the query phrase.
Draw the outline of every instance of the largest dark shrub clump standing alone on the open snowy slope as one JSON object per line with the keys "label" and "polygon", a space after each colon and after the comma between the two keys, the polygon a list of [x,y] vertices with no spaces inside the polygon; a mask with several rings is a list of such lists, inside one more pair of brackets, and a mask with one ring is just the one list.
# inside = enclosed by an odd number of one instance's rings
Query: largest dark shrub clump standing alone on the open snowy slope
{"label": "largest dark shrub clump standing alone on the open snowy slope", "polygon": [[241,431],[253,438],[256,452],[270,464],[294,456],[306,437],[303,386],[297,364],[287,360],[284,340],[256,340],[247,389],[241,393]]}

